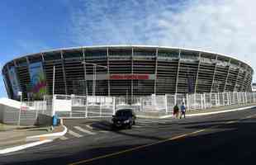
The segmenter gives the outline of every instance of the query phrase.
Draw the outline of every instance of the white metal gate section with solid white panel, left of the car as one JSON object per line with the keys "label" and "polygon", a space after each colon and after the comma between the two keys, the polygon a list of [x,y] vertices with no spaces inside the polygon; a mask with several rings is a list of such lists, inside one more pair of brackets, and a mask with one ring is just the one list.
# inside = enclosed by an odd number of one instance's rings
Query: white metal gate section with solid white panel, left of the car
{"label": "white metal gate section with solid white panel, left of the car", "polygon": [[53,111],[65,118],[107,117],[115,114],[115,97],[55,95]]}

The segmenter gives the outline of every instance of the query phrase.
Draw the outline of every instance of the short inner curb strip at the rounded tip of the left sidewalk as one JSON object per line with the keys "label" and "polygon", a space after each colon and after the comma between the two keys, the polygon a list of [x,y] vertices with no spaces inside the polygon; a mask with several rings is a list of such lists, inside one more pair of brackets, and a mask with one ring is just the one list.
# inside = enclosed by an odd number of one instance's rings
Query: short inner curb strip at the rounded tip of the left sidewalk
{"label": "short inner curb strip at the rounded tip of the left sidewalk", "polygon": [[56,133],[52,133],[52,134],[40,134],[40,135],[36,135],[36,136],[28,136],[26,137],[26,141],[43,141],[45,139],[57,139],[60,136],[64,136],[64,134],[67,133],[68,129],[65,125],[64,126],[64,130],[62,132],[56,132]]}

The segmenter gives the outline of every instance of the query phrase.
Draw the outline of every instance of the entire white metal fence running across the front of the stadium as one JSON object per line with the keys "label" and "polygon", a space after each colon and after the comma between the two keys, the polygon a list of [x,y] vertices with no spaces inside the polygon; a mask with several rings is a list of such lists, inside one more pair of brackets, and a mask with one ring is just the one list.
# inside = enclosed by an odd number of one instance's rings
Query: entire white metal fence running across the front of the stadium
{"label": "entire white metal fence running across the front of the stadium", "polygon": [[134,97],[130,100],[127,97],[55,95],[45,96],[43,101],[23,101],[20,108],[2,107],[0,117],[7,124],[33,125],[42,115],[58,115],[63,118],[110,117],[121,108],[172,113],[173,106],[180,106],[183,102],[189,111],[215,106],[243,105],[256,103],[256,92],[167,94]]}

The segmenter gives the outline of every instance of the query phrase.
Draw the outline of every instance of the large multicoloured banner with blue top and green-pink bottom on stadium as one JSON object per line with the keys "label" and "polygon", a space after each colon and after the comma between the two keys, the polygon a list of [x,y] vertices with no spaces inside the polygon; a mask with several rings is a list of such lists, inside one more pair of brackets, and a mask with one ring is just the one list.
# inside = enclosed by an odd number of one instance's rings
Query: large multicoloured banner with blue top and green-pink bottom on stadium
{"label": "large multicoloured banner with blue top and green-pink bottom on stadium", "polygon": [[41,99],[46,94],[46,78],[42,63],[33,63],[29,66],[31,76],[31,92],[34,99]]}

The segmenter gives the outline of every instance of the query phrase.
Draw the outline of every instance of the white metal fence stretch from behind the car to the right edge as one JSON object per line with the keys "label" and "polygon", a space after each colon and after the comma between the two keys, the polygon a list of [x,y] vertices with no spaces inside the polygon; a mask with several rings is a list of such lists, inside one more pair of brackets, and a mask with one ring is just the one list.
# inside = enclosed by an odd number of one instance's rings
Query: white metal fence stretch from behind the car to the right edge
{"label": "white metal fence stretch from behind the car to the right edge", "polygon": [[125,97],[116,98],[116,109],[133,108],[135,111],[154,111],[170,113],[173,106],[182,105],[184,102],[187,110],[204,110],[214,106],[242,105],[256,102],[256,92],[217,92],[217,93],[192,93],[163,96],[136,97],[135,101],[126,102]]}

